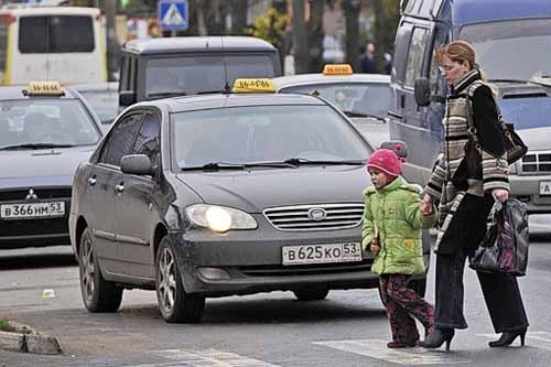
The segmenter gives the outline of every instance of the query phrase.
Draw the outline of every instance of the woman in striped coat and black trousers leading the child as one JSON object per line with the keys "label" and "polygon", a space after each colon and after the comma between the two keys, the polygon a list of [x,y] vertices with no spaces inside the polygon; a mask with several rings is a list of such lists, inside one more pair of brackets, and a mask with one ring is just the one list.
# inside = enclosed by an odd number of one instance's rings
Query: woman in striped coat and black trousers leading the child
{"label": "woman in striped coat and black trousers leading the child", "polygon": [[[421,346],[449,348],[455,328],[466,328],[463,315],[463,271],[486,233],[486,218],[495,199],[509,198],[508,165],[493,89],[475,64],[471,44],[456,41],[436,51],[436,63],[446,79],[444,158],[425,187],[421,207],[440,201],[436,238],[435,328]],[[472,119],[480,147],[469,140]],[[482,148],[482,154],[478,149]],[[486,306],[499,339],[490,347],[521,345],[528,320],[517,279],[477,272]]]}

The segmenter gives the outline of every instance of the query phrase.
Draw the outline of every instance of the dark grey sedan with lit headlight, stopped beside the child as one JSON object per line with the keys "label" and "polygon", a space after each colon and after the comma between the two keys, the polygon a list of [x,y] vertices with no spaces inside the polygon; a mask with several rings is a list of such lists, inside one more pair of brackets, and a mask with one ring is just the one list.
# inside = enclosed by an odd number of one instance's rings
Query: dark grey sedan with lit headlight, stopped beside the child
{"label": "dark grey sedan with lit headlight, stopped beside the child", "polygon": [[217,94],[119,116],[75,175],[69,227],[91,312],[155,289],[168,322],[205,298],[374,288],[360,247],[372,149],[315,96]]}

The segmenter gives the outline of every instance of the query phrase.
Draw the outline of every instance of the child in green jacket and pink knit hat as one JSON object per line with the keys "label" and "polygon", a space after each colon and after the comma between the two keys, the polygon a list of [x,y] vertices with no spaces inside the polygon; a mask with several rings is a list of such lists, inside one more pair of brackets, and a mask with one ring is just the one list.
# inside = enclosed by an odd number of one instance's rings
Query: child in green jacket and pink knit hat
{"label": "child in green jacket and pink knit hat", "polygon": [[[371,270],[379,274],[381,301],[390,321],[389,348],[415,346],[418,319],[425,335],[434,327],[434,307],[408,288],[413,274],[424,272],[421,229],[436,220],[434,207],[421,207],[422,188],[401,177],[401,162],[389,149],[368,160],[372,185],[364,191],[366,205],[361,244],[375,256]],[[421,208],[423,212],[421,212]]]}

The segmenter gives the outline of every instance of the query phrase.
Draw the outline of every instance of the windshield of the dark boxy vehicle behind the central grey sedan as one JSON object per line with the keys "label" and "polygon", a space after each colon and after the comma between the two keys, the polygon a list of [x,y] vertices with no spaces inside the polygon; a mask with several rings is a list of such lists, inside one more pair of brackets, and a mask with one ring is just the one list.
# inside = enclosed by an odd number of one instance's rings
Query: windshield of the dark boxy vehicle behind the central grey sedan
{"label": "windshield of the dark boxy vehicle behind the central grey sedan", "polygon": [[187,55],[147,62],[147,98],[224,90],[238,77],[273,77],[270,55]]}

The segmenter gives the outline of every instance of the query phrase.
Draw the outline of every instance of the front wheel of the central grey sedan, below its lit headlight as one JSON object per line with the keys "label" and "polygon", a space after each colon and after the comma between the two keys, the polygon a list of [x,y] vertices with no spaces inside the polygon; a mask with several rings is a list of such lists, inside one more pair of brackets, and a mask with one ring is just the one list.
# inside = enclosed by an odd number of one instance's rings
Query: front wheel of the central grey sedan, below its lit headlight
{"label": "front wheel of the central grey sedan, below its lit headlight", "polygon": [[197,322],[205,309],[205,298],[185,292],[176,256],[166,237],[159,246],[155,268],[156,299],[163,319],[169,323]]}

